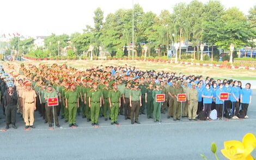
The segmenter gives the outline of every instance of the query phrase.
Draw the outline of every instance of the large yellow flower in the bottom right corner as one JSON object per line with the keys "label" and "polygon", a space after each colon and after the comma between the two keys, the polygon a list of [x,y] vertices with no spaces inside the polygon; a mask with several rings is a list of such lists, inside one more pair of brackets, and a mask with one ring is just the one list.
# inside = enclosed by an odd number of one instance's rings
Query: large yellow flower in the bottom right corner
{"label": "large yellow flower in the bottom right corner", "polygon": [[256,138],[252,133],[247,133],[242,142],[238,140],[224,142],[224,149],[221,152],[230,160],[253,160],[250,154],[254,148],[256,148]]}

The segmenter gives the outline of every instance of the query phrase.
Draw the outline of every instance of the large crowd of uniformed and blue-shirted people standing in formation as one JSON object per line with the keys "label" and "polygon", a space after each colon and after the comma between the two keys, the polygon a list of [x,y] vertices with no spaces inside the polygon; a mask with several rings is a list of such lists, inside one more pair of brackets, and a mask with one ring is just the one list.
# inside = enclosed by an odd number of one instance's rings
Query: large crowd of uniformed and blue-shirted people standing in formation
{"label": "large crowd of uniformed and blue-shirted people standing in formation", "polygon": [[[203,80],[203,76],[143,72],[127,66],[115,69],[101,67],[80,72],[66,65],[41,64],[38,68],[31,65],[26,68],[21,64],[17,73],[13,65],[9,65],[9,74],[0,72],[1,93],[17,92],[18,112],[22,114],[26,128],[34,127],[34,110],[39,111],[45,123],[52,126],[53,111],[52,107],[47,106],[47,100],[54,97],[59,100],[59,105],[54,107],[56,126],[60,126],[58,116],[64,118],[65,123],[69,122],[69,126],[78,126],[76,117],[80,114],[92,125],[99,125],[99,117],[102,116],[106,121],[111,119],[112,125],[119,124],[119,114],[131,119],[131,124],[140,123],[140,114],[160,121],[160,110],[164,114],[167,111],[167,118],[173,117],[176,121],[181,118],[181,114],[189,120],[197,120],[200,111],[204,111],[205,118],[209,119],[210,110],[216,108],[220,119],[223,104],[225,108],[233,109],[234,119],[241,104],[248,118],[247,108],[252,101],[250,84],[242,88],[240,81],[215,81],[209,77]],[[224,92],[229,93],[229,99],[225,101],[220,100],[220,93]],[[160,93],[166,95],[161,104],[155,100],[155,95]],[[181,93],[187,94],[182,106],[177,101],[177,95]],[[2,101],[2,104],[5,110],[7,105],[4,104],[7,102]],[[10,119],[8,115],[6,119]],[[14,126],[15,121],[11,121]],[[7,121],[7,128],[9,124],[10,121]]]}

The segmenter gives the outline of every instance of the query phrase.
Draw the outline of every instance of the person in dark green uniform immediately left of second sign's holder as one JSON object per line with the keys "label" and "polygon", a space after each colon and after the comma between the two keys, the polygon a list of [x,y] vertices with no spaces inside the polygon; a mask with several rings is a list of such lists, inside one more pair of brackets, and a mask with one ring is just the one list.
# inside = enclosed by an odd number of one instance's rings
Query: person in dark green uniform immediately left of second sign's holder
{"label": "person in dark green uniform immediately left of second sign's holder", "polygon": [[153,108],[154,108],[154,97],[153,97],[153,82],[149,82],[149,87],[146,88],[146,93],[145,93],[145,102],[147,103],[147,117],[153,118]]}

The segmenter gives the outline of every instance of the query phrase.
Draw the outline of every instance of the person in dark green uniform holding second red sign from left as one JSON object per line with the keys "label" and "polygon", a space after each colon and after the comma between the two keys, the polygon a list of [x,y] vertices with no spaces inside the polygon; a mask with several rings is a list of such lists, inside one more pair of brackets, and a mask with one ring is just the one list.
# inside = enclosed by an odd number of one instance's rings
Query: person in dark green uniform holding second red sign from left
{"label": "person in dark green uniform holding second red sign from left", "polygon": [[156,121],[160,121],[160,104],[161,102],[156,102],[156,94],[162,94],[162,89],[160,89],[160,83],[156,83],[156,88],[153,90],[152,93],[152,97],[154,99],[153,101],[153,105],[154,105],[154,109],[153,109],[153,119],[154,122]]}

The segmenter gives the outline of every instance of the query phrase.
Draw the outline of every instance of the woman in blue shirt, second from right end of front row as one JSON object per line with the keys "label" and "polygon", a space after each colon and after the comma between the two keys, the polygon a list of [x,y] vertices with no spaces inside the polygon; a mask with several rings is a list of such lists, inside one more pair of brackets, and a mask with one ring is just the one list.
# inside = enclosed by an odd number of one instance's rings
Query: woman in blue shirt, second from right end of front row
{"label": "woman in blue shirt, second from right end of front row", "polygon": [[240,107],[239,106],[239,90],[240,88],[238,87],[238,82],[234,81],[234,86],[231,89],[231,96],[230,96],[230,100],[232,103],[233,119],[239,119],[237,117],[239,113],[239,107]]}

